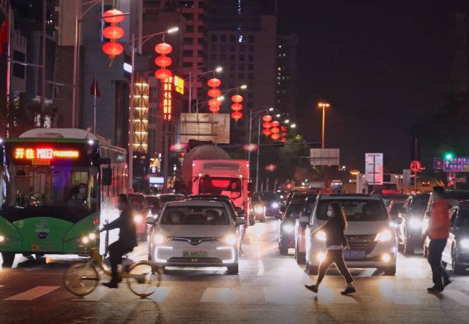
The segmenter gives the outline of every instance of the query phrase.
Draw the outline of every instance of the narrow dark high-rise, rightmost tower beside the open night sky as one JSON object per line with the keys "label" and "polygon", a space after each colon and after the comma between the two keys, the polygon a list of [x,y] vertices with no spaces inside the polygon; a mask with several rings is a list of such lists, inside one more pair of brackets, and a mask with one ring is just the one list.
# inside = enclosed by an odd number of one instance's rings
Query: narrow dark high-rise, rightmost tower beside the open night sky
{"label": "narrow dark high-rise, rightmost tower beside the open night sky", "polygon": [[276,108],[289,119],[295,118],[296,110],[296,35],[277,37]]}

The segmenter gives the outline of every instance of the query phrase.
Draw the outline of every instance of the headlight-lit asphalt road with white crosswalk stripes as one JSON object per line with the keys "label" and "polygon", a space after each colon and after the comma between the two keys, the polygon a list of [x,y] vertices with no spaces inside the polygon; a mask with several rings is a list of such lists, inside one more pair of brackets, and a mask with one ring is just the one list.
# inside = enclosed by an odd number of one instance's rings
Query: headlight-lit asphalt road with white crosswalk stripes
{"label": "headlight-lit asphalt road with white crosswalk stripes", "polygon": [[[318,295],[315,276],[277,251],[278,221],[248,228],[239,275],[225,269],[172,269],[148,299],[125,284],[77,298],[63,288],[67,258],[41,264],[16,256],[0,269],[0,324],[6,323],[469,323],[469,271],[431,294],[430,266],[421,254],[398,256],[396,276],[352,269],[357,293],[340,295],[344,279],[330,269]],[[421,251],[417,251],[421,253]],[[143,259],[144,246],[132,258]],[[16,299],[16,300],[14,300]],[[23,299],[23,300],[17,300]]]}

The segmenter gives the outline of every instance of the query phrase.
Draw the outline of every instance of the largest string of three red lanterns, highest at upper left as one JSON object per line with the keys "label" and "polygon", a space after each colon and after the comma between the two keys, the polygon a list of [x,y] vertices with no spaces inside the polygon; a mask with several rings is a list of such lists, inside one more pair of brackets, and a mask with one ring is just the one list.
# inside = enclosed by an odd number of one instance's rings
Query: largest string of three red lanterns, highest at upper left
{"label": "largest string of three red lanterns, highest at upper left", "polygon": [[116,55],[120,55],[123,52],[123,46],[116,42],[117,38],[121,38],[124,35],[124,30],[117,26],[117,23],[124,19],[124,16],[117,16],[119,14],[123,14],[123,12],[117,9],[108,10],[103,14],[104,21],[111,24],[103,30],[103,36],[110,39],[110,42],[106,42],[103,45],[104,53],[108,54],[111,60],[109,67],[112,66],[112,60],[116,58]]}

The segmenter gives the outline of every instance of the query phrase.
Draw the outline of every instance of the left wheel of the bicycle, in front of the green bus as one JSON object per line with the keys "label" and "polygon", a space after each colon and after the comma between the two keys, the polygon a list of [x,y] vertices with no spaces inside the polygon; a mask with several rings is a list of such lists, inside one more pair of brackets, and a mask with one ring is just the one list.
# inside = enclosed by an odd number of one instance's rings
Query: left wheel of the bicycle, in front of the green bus
{"label": "left wheel of the bicycle, in front of the green bus", "polygon": [[64,273],[65,288],[73,295],[86,296],[95,290],[99,275],[93,264],[77,262]]}

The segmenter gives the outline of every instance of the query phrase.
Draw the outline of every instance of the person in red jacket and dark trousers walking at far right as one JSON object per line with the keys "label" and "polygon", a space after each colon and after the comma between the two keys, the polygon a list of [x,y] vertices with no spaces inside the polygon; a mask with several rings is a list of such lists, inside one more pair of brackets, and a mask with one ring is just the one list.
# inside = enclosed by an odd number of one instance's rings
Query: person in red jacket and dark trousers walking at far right
{"label": "person in red jacket and dark trousers walking at far right", "polygon": [[429,264],[433,273],[433,284],[435,285],[427,289],[431,292],[443,291],[444,287],[450,284],[448,273],[442,267],[442,253],[449,236],[449,208],[444,202],[443,197],[444,188],[441,186],[433,187],[434,202],[431,205],[429,228],[426,229],[424,234],[424,240],[426,236],[429,236],[431,239],[429,245]]}

